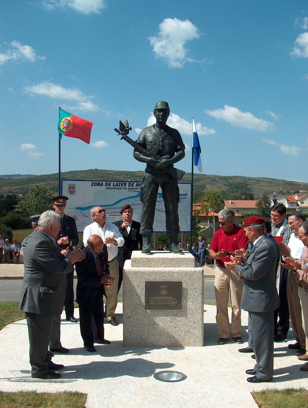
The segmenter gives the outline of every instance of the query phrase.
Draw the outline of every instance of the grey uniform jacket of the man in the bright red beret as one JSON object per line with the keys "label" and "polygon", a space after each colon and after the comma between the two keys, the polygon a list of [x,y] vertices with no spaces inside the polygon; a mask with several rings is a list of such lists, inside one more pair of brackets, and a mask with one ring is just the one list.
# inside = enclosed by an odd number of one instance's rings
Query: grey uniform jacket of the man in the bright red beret
{"label": "grey uniform jacket of the man in the bright red beret", "polygon": [[259,313],[277,309],[276,259],[276,247],[262,235],[252,246],[246,266],[236,266],[236,274],[244,279],[242,309]]}

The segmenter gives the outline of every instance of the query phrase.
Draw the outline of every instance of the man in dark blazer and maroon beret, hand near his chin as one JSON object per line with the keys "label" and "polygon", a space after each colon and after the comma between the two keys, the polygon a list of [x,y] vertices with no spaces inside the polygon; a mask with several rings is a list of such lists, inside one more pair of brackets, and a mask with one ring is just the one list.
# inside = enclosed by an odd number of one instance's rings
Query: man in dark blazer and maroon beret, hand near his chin
{"label": "man in dark blazer and maroon beret, hand near his chin", "polygon": [[126,259],[130,259],[133,251],[138,251],[138,244],[142,248],[142,235],[140,234],[140,222],[133,220],[133,208],[126,204],[121,208],[122,220],[115,224],[124,238],[124,245],[119,247],[117,259],[119,261],[119,284],[118,293],[123,281],[123,267]]}

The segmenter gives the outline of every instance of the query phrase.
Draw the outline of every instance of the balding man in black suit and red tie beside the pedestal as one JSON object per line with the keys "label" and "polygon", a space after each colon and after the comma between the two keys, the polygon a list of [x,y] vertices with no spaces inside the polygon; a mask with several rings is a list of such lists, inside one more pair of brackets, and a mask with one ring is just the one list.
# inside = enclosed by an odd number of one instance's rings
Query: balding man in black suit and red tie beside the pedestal
{"label": "balding man in black suit and red tie beside the pedestal", "polygon": [[[109,276],[107,246],[99,235],[91,235],[83,250],[85,259],[76,264],[76,302],[79,304],[80,333],[87,351],[94,353],[94,342],[110,344],[104,337],[103,286],[110,287],[114,279]],[[93,337],[92,316],[97,328]]]}

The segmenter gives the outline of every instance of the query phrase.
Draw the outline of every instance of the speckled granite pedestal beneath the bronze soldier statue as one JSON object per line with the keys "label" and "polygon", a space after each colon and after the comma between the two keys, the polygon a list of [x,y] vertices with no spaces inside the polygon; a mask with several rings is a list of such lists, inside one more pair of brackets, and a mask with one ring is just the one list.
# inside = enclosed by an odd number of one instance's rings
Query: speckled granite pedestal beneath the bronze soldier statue
{"label": "speckled granite pedestal beneath the bronze soldier statue", "polygon": [[[182,282],[182,309],[146,309],[146,282]],[[203,346],[203,270],[191,253],[133,251],[123,271],[124,346]]]}

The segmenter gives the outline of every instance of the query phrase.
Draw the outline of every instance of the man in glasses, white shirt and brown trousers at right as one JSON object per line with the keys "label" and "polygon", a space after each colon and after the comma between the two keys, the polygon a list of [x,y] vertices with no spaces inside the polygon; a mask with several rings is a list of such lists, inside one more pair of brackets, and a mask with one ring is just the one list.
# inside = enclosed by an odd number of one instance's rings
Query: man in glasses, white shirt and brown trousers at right
{"label": "man in glasses, white shirt and brown trousers at right", "polygon": [[[304,214],[296,211],[289,215],[288,224],[292,230],[288,245],[279,243],[281,255],[284,258],[291,258],[295,261],[299,261],[304,253],[305,245],[299,239],[298,230],[299,224],[305,221]],[[297,349],[295,355],[301,356],[306,354],[306,334],[303,329],[303,323],[301,319],[301,303],[298,294],[299,284],[296,280],[296,275],[292,271],[288,271],[287,277],[287,297],[290,312],[290,320],[295,337],[296,343],[289,344],[289,348]]]}

